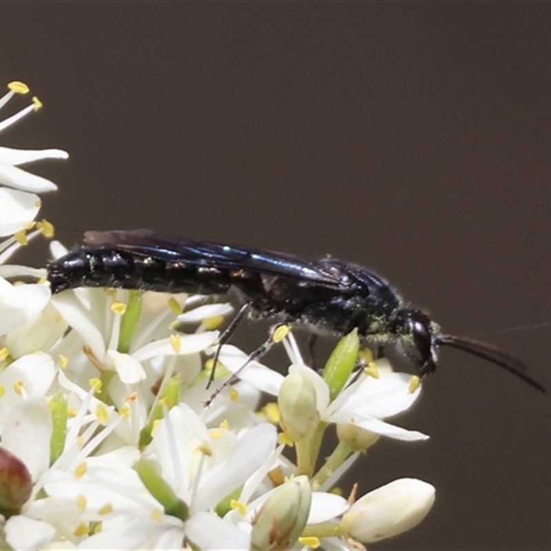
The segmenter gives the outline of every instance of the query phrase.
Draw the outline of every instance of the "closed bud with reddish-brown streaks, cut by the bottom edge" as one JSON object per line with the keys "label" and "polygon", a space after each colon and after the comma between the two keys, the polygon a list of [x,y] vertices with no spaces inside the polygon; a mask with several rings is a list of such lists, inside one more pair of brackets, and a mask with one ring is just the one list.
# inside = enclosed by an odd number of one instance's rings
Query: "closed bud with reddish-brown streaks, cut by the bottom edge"
{"label": "closed bud with reddish-brown streaks, cut by the bottom edge", "polygon": [[251,548],[266,551],[290,548],[306,526],[310,502],[308,477],[296,477],[282,484],[253,518]]}

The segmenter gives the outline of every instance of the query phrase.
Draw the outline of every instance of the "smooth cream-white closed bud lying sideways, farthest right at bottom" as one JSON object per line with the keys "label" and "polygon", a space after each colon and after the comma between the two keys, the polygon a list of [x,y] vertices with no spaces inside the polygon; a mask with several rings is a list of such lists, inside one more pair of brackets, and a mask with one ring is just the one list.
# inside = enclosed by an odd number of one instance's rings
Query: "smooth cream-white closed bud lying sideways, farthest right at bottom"
{"label": "smooth cream-white closed bud lying sideways, farthest right at bottom", "polygon": [[342,517],[342,528],[362,543],[402,534],[417,526],[435,501],[435,487],[402,478],[358,499]]}

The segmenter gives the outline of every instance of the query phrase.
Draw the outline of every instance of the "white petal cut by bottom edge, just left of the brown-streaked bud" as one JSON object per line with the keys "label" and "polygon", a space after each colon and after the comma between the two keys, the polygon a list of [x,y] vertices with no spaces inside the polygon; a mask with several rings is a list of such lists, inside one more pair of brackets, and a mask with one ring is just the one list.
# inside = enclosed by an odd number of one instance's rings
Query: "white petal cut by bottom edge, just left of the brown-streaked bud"
{"label": "white petal cut by bottom edge, just left of the brown-streaked bud", "polygon": [[209,512],[194,514],[185,523],[185,533],[197,548],[205,551],[242,551],[251,546],[249,534]]}

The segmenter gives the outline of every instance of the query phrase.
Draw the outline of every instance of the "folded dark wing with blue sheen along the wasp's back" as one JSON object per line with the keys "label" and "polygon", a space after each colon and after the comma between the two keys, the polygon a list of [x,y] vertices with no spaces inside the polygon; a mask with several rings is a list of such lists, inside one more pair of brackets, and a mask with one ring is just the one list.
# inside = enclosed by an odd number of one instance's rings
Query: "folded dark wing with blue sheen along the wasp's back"
{"label": "folded dark wing with blue sheen along the wasp's back", "polygon": [[260,249],[245,249],[209,241],[167,236],[149,229],[87,231],[87,245],[125,249],[140,256],[179,261],[198,267],[243,270],[284,277],[298,282],[342,290],[347,287],[338,273],[298,256]]}

